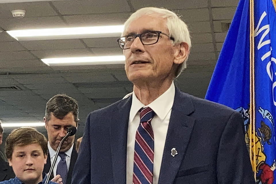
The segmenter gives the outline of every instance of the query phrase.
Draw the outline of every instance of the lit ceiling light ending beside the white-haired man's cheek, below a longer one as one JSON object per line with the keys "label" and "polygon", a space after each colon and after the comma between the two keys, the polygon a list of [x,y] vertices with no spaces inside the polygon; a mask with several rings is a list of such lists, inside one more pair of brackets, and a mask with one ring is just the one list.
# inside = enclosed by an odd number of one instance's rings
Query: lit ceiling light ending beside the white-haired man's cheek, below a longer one
{"label": "lit ceiling light ending beside the white-haired man's cheek, below a longer one", "polygon": [[124,55],[41,59],[48,66],[124,64]]}

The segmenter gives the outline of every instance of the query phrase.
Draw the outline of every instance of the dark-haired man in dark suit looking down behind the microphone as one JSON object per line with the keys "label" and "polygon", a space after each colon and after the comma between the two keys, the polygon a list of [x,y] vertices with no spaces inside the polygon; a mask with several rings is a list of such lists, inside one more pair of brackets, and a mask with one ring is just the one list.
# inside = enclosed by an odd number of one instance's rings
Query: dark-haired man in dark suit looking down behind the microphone
{"label": "dark-haired man in dark suit looking down behind the microphone", "polygon": [[[46,104],[45,128],[48,135],[47,164],[43,172],[48,173],[55,158],[56,150],[62,138],[66,135],[69,127],[78,126],[78,102],[65,94],[53,96]],[[72,172],[78,154],[74,146],[75,135],[68,137],[61,146],[60,154],[53,169],[54,181],[60,182],[57,175],[62,178],[63,184],[70,184]],[[53,181],[53,180],[52,180]]]}

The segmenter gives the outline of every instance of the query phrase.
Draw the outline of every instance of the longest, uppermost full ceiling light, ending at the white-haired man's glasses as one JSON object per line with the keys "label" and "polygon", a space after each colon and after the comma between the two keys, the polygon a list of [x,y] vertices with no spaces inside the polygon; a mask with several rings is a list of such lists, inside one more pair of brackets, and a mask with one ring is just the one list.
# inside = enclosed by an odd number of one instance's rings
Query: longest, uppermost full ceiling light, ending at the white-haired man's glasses
{"label": "longest, uppermost full ceiling light, ending at the white-haired man's glasses", "polygon": [[115,26],[90,26],[73,28],[47,28],[7,31],[18,41],[24,40],[58,40],[73,38],[104,38],[120,36],[123,25]]}

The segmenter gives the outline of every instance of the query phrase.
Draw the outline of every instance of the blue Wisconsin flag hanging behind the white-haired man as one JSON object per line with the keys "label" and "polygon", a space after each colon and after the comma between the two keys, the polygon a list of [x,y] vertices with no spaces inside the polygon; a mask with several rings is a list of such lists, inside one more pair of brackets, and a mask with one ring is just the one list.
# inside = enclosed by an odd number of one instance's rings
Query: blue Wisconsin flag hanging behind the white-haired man
{"label": "blue Wisconsin flag hanging behind the white-haired man", "polygon": [[[250,9],[240,0],[212,75],[206,99],[239,111],[244,118],[245,140],[252,153],[256,183],[276,184],[276,2],[254,1],[255,131],[249,137]],[[252,125],[251,125],[252,126]],[[254,163],[256,162],[256,164]]]}

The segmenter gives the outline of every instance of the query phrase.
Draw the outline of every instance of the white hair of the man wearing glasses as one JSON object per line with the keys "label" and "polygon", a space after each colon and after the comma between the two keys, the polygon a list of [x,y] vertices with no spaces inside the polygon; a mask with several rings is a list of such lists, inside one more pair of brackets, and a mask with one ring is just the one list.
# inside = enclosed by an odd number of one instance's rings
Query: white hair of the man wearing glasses
{"label": "white hair of the man wearing glasses", "polygon": [[[185,24],[185,22],[183,22],[183,20],[180,19],[180,16],[177,16],[177,14],[175,14],[174,12],[164,8],[145,7],[138,9],[136,12],[132,13],[131,16],[127,19],[127,21],[124,23],[124,32],[122,33],[122,36],[124,36],[125,31],[129,27],[129,24],[133,20],[136,20],[143,15],[153,15],[160,18],[166,18],[169,36],[175,39],[174,41],[172,41],[173,45],[176,43],[185,42],[188,45],[188,49],[191,49],[191,38],[187,24]],[[181,63],[178,66],[176,71],[176,77],[178,77],[180,73],[185,68],[187,68],[187,59],[188,56],[185,58],[185,61],[183,61],[183,63]]]}

